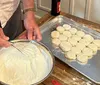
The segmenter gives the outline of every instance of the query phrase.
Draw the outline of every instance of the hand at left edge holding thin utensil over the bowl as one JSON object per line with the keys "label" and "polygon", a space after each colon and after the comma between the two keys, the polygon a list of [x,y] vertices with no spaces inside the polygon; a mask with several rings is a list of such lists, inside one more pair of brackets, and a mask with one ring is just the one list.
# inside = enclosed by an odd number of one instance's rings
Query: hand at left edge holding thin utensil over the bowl
{"label": "hand at left edge holding thin utensil over the bowl", "polygon": [[2,28],[0,28],[0,47],[9,47],[10,42],[8,42],[9,37],[5,36]]}

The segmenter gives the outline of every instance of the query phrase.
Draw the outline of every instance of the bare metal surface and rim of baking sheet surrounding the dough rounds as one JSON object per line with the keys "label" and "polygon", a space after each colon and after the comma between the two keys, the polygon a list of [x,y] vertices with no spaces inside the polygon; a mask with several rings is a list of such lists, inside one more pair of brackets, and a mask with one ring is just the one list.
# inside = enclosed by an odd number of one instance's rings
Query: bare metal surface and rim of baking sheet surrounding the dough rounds
{"label": "bare metal surface and rim of baking sheet surrounding the dough rounds", "polygon": [[52,51],[53,55],[68,64],[90,80],[95,83],[100,84],[100,50],[92,59],[89,59],[86,65],[79,64],[77,61],[70,62],[67,58],[64,57],[63,52],[59,48],[55,48],[51,43],[51,32],[55,30],[57,26],[62,26],[63,24],[69,24],[72,27],[82,30],[85,33],[92,35],[95,39],[100,39],[100,33],[85,27],[84,25],[78,24],[75,21],[68,19],[62,15],[57,16],[53,20],[42,25],[41,32],[43,36],[42,42]]}

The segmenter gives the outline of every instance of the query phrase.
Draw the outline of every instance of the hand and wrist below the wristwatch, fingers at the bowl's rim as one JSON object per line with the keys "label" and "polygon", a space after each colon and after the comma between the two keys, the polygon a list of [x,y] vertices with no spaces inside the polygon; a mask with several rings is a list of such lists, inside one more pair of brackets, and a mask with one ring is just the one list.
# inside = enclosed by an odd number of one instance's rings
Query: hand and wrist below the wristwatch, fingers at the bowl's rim
{"label": "hand and wrist below the wristwatch, fingers at the bowl's rim", "polygon": [[26,32],[24,32],[19,38],[29,39],[29,40],[42,40],[42,36],[40,33],[40,29],[35,22],[34,12],[28,11],[24,15],[24,26],[26,28]]}

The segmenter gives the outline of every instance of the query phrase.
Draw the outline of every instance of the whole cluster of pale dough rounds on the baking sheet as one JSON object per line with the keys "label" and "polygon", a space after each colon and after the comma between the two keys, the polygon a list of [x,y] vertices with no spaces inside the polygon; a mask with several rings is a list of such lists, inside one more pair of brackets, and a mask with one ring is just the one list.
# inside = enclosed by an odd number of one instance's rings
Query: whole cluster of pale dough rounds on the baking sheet
{"label": "whole cluster of pale dough rounds on the baking sheet", "polygon": [[71,28],[64,24],[51,32],[52,43],[60,47],[65,56],[71,60],[86,63],[100,49],[100,40],[95,40],[91,35]]}

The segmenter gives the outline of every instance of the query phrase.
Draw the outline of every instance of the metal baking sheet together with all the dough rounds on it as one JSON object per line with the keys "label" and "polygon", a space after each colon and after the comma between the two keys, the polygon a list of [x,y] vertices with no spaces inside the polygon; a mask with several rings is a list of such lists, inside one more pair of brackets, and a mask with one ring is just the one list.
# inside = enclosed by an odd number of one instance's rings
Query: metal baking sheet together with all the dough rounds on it
{"label": "metal baking sheet together with all the dough rounds on it", "polygon": [[53,55],[100,84],[100,33],[59,15],[41,27]]}

